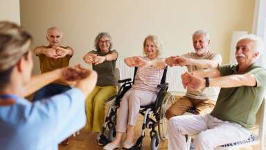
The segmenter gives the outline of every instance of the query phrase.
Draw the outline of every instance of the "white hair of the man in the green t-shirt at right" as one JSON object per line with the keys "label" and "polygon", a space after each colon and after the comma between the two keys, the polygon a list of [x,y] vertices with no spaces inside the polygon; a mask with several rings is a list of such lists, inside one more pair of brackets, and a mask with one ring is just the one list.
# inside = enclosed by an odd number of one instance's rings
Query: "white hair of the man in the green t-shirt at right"
{"label": "white hair of the man in the green t-shirt at right", "polygon": [[[240,40],[244,40],[244,39],[248,39],[248,40],[254,41],[254,43],[255,43],[255,51],[258,51],[258,53],[263,51],[263,49],[264,49],[263,40],[261,40],[261,38],[258,37],[257,35],[254,35],[254,34],[243,35],[242,37],[240,37],[238,39],[238,42]],[[236,43],[238,43],[238,42],[236,42]]]}

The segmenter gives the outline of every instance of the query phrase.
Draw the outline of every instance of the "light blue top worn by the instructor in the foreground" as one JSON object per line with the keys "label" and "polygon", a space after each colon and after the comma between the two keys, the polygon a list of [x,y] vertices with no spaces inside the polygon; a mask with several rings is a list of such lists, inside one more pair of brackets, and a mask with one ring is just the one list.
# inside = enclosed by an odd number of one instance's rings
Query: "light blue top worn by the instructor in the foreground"
{"label": "light blue top worn by the instructor in the foreground", "polygon": [[19,98],[0,107],[0,149],[55,150],[85,123],[85,97],[76,88],[34,103]]}

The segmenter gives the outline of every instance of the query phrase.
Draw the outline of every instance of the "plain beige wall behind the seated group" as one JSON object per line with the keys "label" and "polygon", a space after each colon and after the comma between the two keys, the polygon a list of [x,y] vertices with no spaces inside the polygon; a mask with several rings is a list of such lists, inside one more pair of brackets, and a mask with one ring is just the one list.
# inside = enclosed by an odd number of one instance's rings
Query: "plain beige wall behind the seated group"
{"label": "plain beige wall behind the seated group", "polygon": [[228,63],[231,33],[251,31],[254,4],[254,0],[21,0],[21,24],[33,34],[34,46],[47,44],[46,28],[62,28],[63,43],[76,50],[71,64],[83,62],[101,31],[112,35],[121,57],[140,55],[148,34],[158,35],[163,56],[170,56],[193,51],[191,35],[199,28],[209,31],[211,49]]}

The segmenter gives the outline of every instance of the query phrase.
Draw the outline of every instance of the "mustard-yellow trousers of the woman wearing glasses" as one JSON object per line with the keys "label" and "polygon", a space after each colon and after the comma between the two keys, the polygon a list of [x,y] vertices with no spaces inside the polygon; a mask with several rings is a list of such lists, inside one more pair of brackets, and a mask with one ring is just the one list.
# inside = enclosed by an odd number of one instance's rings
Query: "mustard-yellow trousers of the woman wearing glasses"
{"label": "mustard-yellow trousers of the woman wearing glasses", "polygon": [[116,95],[116,86],[96,86],[86,99],[87,129],[100,132],[105,119],[105,101]]}

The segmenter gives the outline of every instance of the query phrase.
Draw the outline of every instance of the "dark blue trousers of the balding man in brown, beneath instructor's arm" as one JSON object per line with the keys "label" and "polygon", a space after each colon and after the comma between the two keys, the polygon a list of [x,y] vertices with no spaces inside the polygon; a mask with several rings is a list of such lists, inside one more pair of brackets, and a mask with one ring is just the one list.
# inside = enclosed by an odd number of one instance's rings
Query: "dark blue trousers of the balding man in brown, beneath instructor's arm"
{"label": "dark blue trousers of the balding man in brown, beneath instructor's arm", "polygon": [[33,101],[39,101],[42,99],[47,99],[49,97],[52,97],[56,94],[61,94],[62,92],[65,92],[67,90],[70,90],[71,87],[68,85],[60,85],[60,84],[55,84],[51,83],[43,88],[39,89],[33,97]]}

